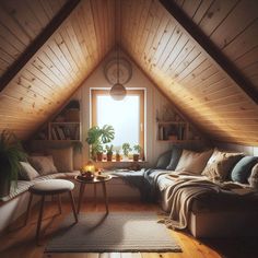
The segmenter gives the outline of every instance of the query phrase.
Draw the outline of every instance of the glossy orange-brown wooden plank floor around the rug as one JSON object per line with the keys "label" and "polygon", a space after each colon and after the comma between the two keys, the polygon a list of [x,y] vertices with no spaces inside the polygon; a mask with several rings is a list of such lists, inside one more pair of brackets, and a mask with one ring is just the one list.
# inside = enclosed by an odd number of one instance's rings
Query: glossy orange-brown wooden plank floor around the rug
{"label": "glossy orange-brown wooden plank floor around the rug", "polygon": [[[159,211],[155,204],[141,202],[110,202],[110,211]],[[105,206],[93,203],[82,206],[82,212],[105,211]],[[70,204],[62,203],[62,214],[58,215],[58,206],[48,202],[44,214],[44,236],[42,245],[37,246],[34,241],[38,207],[32,211],[30,222],[22,226],[23,218],[15,222],[15,227],[9,230],[0,237],[0,258],[236,258],[236,257],[258,257],[257,239],[212,239],[198,241],[179,232],[171,231],[171,234],[178,241],[183,253],[109,253],[109,254],[44,254],[45,245],[58,228],[59,223],[70,213]],[[55,215],[56,214],[56,215]],[[151,237],[151,236],[150,236]],[[257,242],[257,243],[256,243]]]}

